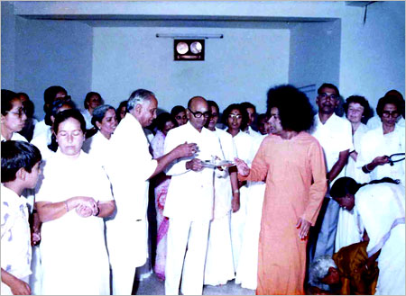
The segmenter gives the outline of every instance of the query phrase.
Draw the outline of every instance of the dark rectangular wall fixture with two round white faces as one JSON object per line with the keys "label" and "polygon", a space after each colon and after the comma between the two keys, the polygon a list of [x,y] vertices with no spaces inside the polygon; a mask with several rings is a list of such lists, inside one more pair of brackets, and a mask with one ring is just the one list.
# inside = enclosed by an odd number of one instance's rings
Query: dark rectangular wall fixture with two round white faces
{"label": "dark rectangular wall fixture with two round white faces", "polygon": [[205,60],[204,39],[173,40],[174,60]]}

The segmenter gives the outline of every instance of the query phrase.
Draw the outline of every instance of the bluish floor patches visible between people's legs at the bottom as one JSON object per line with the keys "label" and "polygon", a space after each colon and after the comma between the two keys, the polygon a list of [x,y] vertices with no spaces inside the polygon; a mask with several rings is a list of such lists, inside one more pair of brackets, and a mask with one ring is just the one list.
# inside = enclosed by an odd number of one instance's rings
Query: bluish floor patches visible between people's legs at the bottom
{"label": "bluish floor patches visible between people's legs at the bottom", "polygon": [[[164,282],[159,281],[155,274],[134,284],[133,294],[136,295],[164,295]],[[225,285],[204,286],[203,295],[255,295],[254,290],[241,288],[241,285],[229,281]]]}

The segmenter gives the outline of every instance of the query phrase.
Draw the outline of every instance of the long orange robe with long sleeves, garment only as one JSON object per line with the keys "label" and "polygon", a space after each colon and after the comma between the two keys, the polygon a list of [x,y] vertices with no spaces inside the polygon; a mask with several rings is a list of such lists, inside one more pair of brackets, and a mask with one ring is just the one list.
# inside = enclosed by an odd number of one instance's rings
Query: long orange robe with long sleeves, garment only
{"label": "long orange robe with long sleeves, garment only", "polygon": [[307,239],[300,240],[296,223],[302,218],[314,225],[327,191],[318,140],[304,131],[292,139],[270,135],[263,139],[250,175],[239,178],[266,178],[256,294],[304,294]]}

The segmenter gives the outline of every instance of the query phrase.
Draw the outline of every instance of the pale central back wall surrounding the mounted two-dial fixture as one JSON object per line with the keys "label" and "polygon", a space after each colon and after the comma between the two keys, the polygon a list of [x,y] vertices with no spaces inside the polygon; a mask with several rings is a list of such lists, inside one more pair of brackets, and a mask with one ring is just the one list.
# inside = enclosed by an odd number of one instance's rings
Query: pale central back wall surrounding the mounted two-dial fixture
{"label": "pale central back wall surrounding the mounted two-dial fixture", "polygon": [[[174,61],[173,40],[157,32],[222,33],[206,40],[205,61]],[[166,111],[194,95],[266,110],[270,85],[288,82],[289,30],[211,28],[95,28],[92,89],[115,105],[137,88],[154,92]]]}

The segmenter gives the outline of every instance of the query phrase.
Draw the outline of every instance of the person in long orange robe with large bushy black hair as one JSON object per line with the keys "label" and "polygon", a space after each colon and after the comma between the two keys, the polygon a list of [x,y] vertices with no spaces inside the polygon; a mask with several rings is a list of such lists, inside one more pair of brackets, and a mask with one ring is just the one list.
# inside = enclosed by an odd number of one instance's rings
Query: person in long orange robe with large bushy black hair
{"label": "person in long orange robe with large bushy black hair", "polygon": [[235,158],[240,180],[266,179],[256,294],[304,294],[309,228],[327,191],[323,151],[304,131],[314,115],[306,94],[291,85],[274,87],[267,113],[272,135],[251,168]]}

